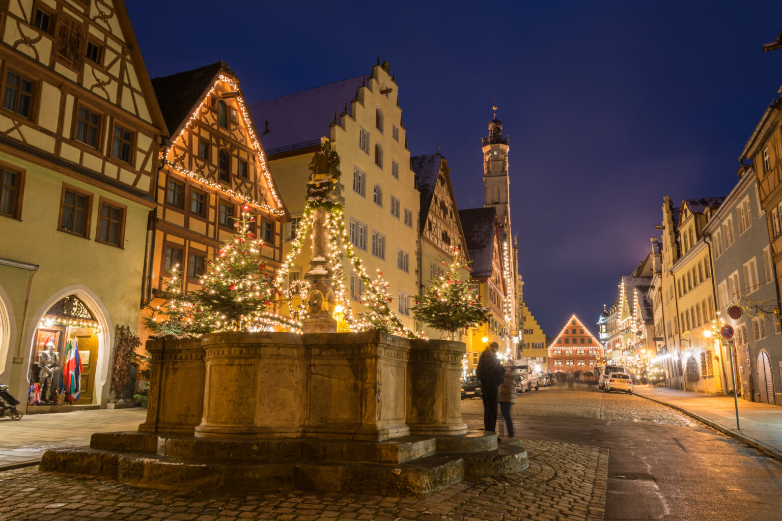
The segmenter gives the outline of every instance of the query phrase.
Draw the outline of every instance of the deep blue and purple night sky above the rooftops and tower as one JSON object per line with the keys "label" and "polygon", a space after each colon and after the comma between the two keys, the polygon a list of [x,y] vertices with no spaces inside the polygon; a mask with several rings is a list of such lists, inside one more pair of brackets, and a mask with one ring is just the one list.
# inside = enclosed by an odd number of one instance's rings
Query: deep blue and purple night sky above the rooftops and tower
{"label": "deep blue and purple night sky above the rooftops and tower", "polygon": [[[225,60],[248,102],[370,73],[400,89],[412,155],[482,206],[494,98],[511,137],[525,300],[594,325],[650,250],[662,197],[719,197],[782,84],[782,2],[131,0],[151,77]],[[185,5],[187,6],[185,8]],[[272,171],[274,173],[274,171]]]}

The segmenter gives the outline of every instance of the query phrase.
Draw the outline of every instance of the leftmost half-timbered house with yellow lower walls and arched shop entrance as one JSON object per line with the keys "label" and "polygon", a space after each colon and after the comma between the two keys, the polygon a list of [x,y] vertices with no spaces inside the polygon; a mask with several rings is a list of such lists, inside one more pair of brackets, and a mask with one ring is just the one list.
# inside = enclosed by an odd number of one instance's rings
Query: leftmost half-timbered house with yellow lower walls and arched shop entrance
{"label": "leftmost half-timbered house with yellow lower walls and arched shop entrance", "polygon": [[104,404],[166,124],[121,0],[4,2],[0,32],[0,380],[24,411],[46,345],[60,368],[76,345],[76,403]]}

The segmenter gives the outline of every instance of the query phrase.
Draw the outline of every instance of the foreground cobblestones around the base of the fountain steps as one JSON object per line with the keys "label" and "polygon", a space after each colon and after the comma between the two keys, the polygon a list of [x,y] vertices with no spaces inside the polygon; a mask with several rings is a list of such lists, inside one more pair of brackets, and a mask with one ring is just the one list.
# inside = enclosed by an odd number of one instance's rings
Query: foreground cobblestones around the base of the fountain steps
{"label": "foreground cobblestones around the base of the fountain steps", "polygon": [[466,480],[425,499],[355,494],[178,494],[113,480],[16,469],[0,473],[0,519],[604,519],[608,449],[525,441],[523,473]]}

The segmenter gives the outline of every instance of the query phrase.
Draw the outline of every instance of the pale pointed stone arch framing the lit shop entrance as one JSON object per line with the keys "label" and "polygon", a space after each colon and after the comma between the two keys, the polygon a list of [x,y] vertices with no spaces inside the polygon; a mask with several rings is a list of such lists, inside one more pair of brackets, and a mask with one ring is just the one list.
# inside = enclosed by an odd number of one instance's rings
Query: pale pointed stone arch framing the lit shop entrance
{"label": "pale pointed stone arch framing the lit shop entrance", "polygon": [[[89,309],[95,322],[100,325],[100,330],[95,333],[95,342],[97,344],[97,349],[95,350],[96,356],[95,359],[89,360],[91,369],[91,382],[89,385],[93,391],[89,401],[92,404],[102,404],[109,399],[109,386],[111,384],[109,365],[111,355],[110,348],[113,345],[114,330],[109,318],[109,312],[106,310],[106,306],[103,305],[98,295],[95,294],[94,291],[91,291],[89,287],[84,286],[84,284],[74,284],[69,287],[64,287],[62,290],[52,294],[52,296],[48,298],[30,318],[32,319],[32,323],[38,325],[41,323],[41,319],[44,319],[47,315],[49,310],[63,301],[66,297],[76,297],[81,301],[84,306]],[[38,327],[32,327],[30,329],[30,333],[26,335],[27,338],[25,339],[26,345],[28,346],[26,353],[27,370],[25,373],[26,379],[23,381],[27,381],[27,387],[30,385],[30,375],[34,370],[32,366],[36,362],[34,355],[37,349],[36,337],[38,334]],[[64,362],[64,360],[60,363],[62,362]]]}

